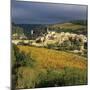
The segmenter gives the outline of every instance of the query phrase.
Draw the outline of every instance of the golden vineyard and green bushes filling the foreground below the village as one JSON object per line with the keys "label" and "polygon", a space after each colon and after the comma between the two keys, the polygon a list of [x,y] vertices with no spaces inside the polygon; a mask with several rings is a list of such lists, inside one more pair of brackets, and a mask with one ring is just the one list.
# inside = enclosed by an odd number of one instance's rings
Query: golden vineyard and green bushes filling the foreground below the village
{"label": "golden vineyard and green bushes filling the foreground below the village", "polygon": [[65,51],[12,46],[12,88],[87,84],[87,58]]}

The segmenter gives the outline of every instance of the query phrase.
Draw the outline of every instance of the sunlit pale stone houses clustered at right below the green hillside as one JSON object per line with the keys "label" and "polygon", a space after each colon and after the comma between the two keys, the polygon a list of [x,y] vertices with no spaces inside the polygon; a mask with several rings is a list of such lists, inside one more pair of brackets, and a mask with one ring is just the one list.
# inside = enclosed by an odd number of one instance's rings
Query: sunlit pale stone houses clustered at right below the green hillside
{"label": "sunlit pale stone houses clustered at right below the green hillside", "polygon": [[[85,44],[87,43],[87,37],[83,34],[74,34],[69,32],[61,32],[56,33],[55,31],[49,31],[46,35],[40,36],[36,39],[40,44],[42,43],[43,46],[47,46],[49,44],[58,44],[62,45],[64,42],[70,41],[77,42],[80,45],[79,50],[74,50],[75,53],[77,52],[83,52],[85,50]],[[68,46],[71,45],[71,43],[68,43]],[[78,44],[77,44],[78,45]]]}

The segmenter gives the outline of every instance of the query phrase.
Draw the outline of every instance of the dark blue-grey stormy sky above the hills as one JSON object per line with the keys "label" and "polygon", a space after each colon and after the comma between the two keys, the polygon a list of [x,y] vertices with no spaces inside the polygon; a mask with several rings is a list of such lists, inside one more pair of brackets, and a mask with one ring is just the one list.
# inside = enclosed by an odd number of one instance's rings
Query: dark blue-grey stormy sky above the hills
{"label": "dark blue-grey stormy sky above the hills", "polygon": [[87,6],[12,0],[11,17],[16,24],[54,24],[86,20]]}

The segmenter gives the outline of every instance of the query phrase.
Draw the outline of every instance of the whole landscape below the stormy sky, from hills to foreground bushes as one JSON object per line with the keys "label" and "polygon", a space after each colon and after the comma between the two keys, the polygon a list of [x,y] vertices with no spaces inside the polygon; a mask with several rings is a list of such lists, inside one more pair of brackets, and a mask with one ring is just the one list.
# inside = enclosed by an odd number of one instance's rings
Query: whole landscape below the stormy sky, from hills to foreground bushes
{"label": "whole landscape below the stormy sky, from hills to foreground bushes", "polygon": [[[47,27],[12,27],[12,38],[19,35],[12,39],[12,90],[87,85],[86,25],[68,22]],[[27,39],[20,39],[22,35]]]}

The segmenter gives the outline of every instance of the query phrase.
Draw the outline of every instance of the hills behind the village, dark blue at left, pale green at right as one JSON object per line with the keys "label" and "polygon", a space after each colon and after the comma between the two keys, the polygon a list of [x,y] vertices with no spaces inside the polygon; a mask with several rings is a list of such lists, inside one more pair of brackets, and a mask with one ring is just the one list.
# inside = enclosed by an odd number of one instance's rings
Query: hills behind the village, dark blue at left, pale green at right
{"label": "hills behind the village, dark blue at left, pale green at right", "polygon": [[[55,24],[14,24],[12,23],[12,34],[17,33],[19,36],[24,33],[28,39],[36,39],[38,36],[42,36],[49,31],[54,30],[56,32],[71,32],[76,34],[87,35],[87,24],[85,21],[68,21],[66,23]],[[33,30],[33,35],[31,31]]]}

